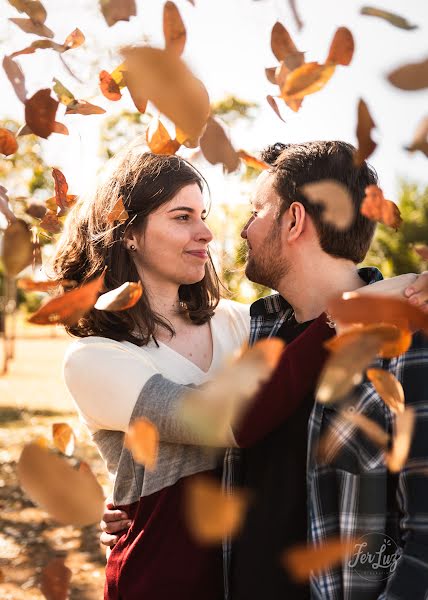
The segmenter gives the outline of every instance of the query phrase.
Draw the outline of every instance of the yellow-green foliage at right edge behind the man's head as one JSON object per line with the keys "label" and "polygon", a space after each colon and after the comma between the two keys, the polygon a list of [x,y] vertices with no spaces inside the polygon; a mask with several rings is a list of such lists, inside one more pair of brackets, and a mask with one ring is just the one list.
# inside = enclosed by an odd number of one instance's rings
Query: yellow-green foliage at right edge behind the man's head
{"label": "yellow-green foliage at right edge behind the man's head", "polygon": [[403,224],[397,232],[384,225],[377,228],[375,239],[364,261],[380,269],[385,277],[420,273],[428,268],[413,245],[428,241],[428,187],[403,182],[398,201]]}

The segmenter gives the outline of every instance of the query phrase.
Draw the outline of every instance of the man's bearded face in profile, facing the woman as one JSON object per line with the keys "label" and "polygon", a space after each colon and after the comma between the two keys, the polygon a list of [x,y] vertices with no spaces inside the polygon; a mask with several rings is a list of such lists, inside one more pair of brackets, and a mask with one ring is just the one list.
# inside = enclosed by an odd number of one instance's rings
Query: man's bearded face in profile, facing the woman
{"label": "man's bearded face in profile, facing the woman", "polygon": [[288,271],[281,244],[281,225],[276,219],[279,202],[273,189],[273,175],[265,171],[256,182],[251,218],[241,231],[241,237],[248,244],[246,276],[272,289],[278,288]]}

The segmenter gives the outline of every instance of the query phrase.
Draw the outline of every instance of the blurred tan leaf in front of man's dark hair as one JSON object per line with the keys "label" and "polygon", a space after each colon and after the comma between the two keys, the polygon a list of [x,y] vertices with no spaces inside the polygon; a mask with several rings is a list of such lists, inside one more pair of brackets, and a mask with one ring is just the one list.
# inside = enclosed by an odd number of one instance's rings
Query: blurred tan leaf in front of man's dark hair
{"label": "blurred tan leaf in front of man's dark hair", "polygon": [[348,229],[354,221],[354,204],[348,189],[334,179],[323,179],[302,186],[306,198],[323,208],[322,219],[337,229]]}

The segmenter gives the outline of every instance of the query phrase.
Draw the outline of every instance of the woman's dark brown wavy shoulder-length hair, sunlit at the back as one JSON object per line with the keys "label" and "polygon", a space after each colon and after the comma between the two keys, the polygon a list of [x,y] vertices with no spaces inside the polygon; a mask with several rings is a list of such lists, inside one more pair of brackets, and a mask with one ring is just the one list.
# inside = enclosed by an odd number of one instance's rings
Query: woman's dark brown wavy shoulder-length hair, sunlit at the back
{"label": "woman's dark brown wavy shoulder-length hair, sunlit at the back", "polygon": [[[139,281],[132,258],[123,243],[125,230],[143,232],[150,213],[165,204],[187,185],[203,190],[204,179],[187,161],[178,156],[147,152],[139,142],[127,146],[107,164],[95,193],[79,201],[72,209],[53,261],[55,276],[74,280],[79,285],[105,275],[106,291],[127,281]],[[112,224],[108,215],[122,197],[129,219]],[[142,282],[144,288],[144,281]],[[196,325],[208,322],[220,299],[220,281],[211,256],[202,281],[179,287],[182,313]],[[125,311],[90,310],[78,323],[66,327],[78,337],[91,335],[145,346],[155,331],[164,327],[171,335],[169,321],[155,313],[146,294]]]}

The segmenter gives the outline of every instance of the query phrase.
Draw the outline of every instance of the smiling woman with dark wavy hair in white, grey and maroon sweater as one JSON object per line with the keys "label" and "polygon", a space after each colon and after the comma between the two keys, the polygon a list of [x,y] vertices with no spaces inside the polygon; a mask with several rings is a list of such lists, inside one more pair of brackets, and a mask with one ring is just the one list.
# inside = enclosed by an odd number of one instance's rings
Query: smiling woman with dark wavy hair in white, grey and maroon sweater
{"label": "smiling woman with dark wavy hair in white, grey and maroon sweater", "polygon": [[[126,150],[95,197],[73,210],[55,260],[64,279],[83,282],[107,267],[107,289],[139,280],[144,287],[132,309],[94,309],[69,327],[82,339],[65,360],[67,386],[114,476],[113,503],[132,522],[107,564],[107,600],[218,600],[223,593],[221,548],[197,545],[182,510],[186,482],[201,472],[216,476],[218,459],[177,421],[174,398],[247,341],[249,314],[248,306],[219,299],[202,189],[181,158]],[[120,198],[128,215],[112,224]],[[154,471],[123,446],[129,423],[142,416],[160,434]],[[222,445],[234,443],[230,430]]]}

